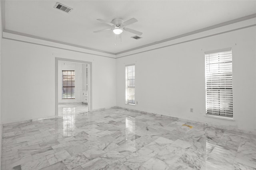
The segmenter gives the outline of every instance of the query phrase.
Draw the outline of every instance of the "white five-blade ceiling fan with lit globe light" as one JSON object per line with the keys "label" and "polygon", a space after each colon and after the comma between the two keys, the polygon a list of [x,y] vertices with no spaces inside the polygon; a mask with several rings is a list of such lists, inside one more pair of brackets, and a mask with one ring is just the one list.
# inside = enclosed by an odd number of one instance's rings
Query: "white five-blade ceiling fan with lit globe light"
{"label": "white five-blade ceiling fan with lit globe light", "polygon": [[105,21],[105,20],[102,20],[102,19],[97,19],[97,20],[101,21],[101,22],[104,22],[108,25],[111,25],[112,28],[101,29],[101,30],[98,30],[98,31],[94,31],[94,33],[112,30],[114,32],[114,34],[116,35],[116,39],[121,39],[121,33],[123,31],[128,31],[128,32],[134,33],[136,35],[142,35],[142,32],[136,31],[134,29],[130,29],[130,28],[126,27],[127,25],[138,22],[138,20],[136,20],[135,18],[132,18],[132,19],[127,20],[125,22],[122,19],[114,19],[111,22],[108,22],[108,21]]}

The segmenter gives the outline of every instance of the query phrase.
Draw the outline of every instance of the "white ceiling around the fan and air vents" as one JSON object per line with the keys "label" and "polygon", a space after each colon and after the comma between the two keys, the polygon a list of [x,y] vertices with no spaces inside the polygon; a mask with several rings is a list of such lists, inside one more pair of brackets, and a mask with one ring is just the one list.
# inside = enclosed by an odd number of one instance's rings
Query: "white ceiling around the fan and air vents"
{"label": "white ceiling around the fan and air vents", "polygon": [[[72,12],[67,14],[53,8],[56,2],[73,8]],[[9,0],[3,4],[6,30],[110,53],[119,53],[256,13],[255,0]],[[130,37],[134,34],[124,31],[122,43],[114,45],[115,36],[111,30],[93,33],[111,27],[96,20],[99,18],[109,22],[114,18],[124,21],[136,18],[138,22],[127,27],[143,32],[143,38],[132,39]]]}

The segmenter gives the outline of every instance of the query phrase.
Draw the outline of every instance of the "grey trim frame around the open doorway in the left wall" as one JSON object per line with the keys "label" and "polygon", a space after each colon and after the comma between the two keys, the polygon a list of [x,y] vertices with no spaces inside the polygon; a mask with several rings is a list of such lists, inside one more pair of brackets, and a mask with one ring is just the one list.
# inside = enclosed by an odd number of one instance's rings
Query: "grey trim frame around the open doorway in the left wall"
{"label": "grey trim frame around the open doorway in the left wall", "polygon": [[58,61],[69,61],[89,65],[88,74],[88,111],[92,111],[92,62],[55,57],[55,115],[58,116]]}

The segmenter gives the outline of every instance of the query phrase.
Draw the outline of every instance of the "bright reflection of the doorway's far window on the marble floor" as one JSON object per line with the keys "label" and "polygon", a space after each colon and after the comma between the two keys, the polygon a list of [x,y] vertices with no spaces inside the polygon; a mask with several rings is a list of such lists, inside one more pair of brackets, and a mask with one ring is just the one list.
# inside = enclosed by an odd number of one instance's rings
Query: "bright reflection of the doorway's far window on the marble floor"
{"label": "bright reflection of the doorway's far window on the marble floor", "polygon": [[76,108],[62,108],[63,119],[63,137],[71,137],[76,135]]}

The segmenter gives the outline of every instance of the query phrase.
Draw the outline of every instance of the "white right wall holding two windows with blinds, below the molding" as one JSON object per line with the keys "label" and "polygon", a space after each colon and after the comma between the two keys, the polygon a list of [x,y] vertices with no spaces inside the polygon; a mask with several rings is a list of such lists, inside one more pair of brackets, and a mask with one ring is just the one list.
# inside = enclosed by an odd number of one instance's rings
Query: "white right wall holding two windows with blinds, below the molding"
{"label": "white right wall holding two windows with blinds, below the molding", "polygon": [[[116,59],[117,106],[256,130],[256,27]],[[232,47],[234,121],[205,116],[204,52]],[[136,101],[125,104],[125,65],[136,64]],[[194,108],[194,113],[190,113]]]}

